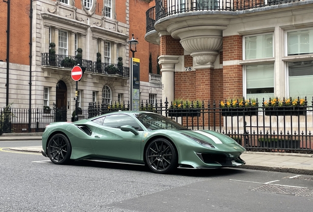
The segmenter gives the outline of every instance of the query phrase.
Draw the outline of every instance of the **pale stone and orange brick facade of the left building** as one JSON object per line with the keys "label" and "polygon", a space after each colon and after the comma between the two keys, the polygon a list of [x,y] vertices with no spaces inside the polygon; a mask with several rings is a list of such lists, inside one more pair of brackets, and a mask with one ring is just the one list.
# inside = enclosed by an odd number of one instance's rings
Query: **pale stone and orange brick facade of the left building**
{"label": "pale stone and orange brick facade of the left building", "polygon": [[[129,46],[131,32],[138,37],[136,57],[141,64],[141,99],[146,100],[149,93],[160,96],[161,84],[149,82],[149,43],[144,40],[145,25],[138,25],[138,20],[145,19],[145,10],[149,8],[150,0],[138,2],[112,0],[111,17],[104,10],[104,0],[94,0],[91,8],[83,6],[83,0],[33,0],[32,26],[30,26],[30,2],[10,1],[10,46],[9,46],[9,103],[18,108],[42,108],[44,105],[44,88],[48,88],[48,105],[65,106],[68,119],[75,108],[75,81],[71,79],[71,68],[43,65],[42,53],[49,53],[49,43],[56,44],[56,54],[75,56],[77,48],[81,48],[82,58],[96,61],[96,53],[101,53],[101,61],[110,60],[117,64],[117,58],[123,57],[123,66],[129,67]],[[65,2],[65,3],[63,3]],[[66,3],[68,2],[68,3]],[[137,8],[138,7],[138,8]],[[137,11],[138,10],[138,11]],[[138,20],[136,20],[138,19]],[[6,95],[6,7],[1,7],[0,24],[0,107],[5,106]],[[31,30],[31,31],[30,31]],[[31,53],[30,53],[30,34]],[[65,35],[64,35],[65,34]],[[64,38],[66,41],[64,41]],[[59,39],[62,39],[59,42]],[[104,48],[109,43],[109,55],[104,55]],[[63,47],[62,45],[65,44]],[[151,46],[151,48],[155,48]],[[31,54],[31,60],[30,60]],[[106,58],[105,58],[106,56]],[[156,60],[156,56],[154,58]],[[2,61],[1,61],[2,60]],[[31,67],[30,67],[31,61]],[[154,63],[156,64],[156,62]],[[30,78],[31,76],[31,78]],[[66,90],[58,100],[58,85],[63,81]],[[31,83],[31,86],[30,86]],[[63,84],[63,83],[62,83]],[[107,75],[86,71],[78,82],[80,91],[80,107],[88,107],[95,98],[102,102],[103,88],[110,89],[112,102],[128,101],[129,78],[119,75]],[[31,89],[31,104],[30,100]],[[93,96],[95,94],[95,97]],[[148,99],[148,98],[147,98]],[[60,105],[61,104],[61,105]]]}

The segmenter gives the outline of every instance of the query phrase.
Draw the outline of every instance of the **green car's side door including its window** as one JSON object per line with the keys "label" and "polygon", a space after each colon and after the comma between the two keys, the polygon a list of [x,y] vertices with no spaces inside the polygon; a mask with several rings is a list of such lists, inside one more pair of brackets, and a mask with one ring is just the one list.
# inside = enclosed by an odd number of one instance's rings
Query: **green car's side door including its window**
{"label": "green car's side door including its window", "polygon": [[[139,134],[122,131],[121,126],[124,125],[132,126]],[[94,151],[98,156],[105,158],[139,161],[142,135],[139,123],[130,115],[107,115],[94,133]]]}

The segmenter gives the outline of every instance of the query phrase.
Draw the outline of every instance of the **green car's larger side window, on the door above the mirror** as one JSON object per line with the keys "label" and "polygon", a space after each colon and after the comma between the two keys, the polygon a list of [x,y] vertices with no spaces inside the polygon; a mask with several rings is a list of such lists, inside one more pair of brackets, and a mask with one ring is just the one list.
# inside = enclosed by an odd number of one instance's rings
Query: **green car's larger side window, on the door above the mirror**
{"label": "green car's larger side window, on the door above the mirror", "polygon": [[121,128],[124,125],[130,125],[137,131],[141,130],[138,122],[129,115],[113,114],[105,116],[103,126],[112,128]]}

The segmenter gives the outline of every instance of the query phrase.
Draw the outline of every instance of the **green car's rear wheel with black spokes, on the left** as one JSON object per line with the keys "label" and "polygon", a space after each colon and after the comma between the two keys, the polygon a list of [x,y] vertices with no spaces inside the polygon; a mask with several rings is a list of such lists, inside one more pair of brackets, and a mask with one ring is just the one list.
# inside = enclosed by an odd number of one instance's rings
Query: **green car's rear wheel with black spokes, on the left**
{"label": "green car's rear wheel with black spokes, on the left", "polygon": [[48,156],[55,164],[66,164],[71,157],[72,147],[63,134],[55,134],[48,143]]}

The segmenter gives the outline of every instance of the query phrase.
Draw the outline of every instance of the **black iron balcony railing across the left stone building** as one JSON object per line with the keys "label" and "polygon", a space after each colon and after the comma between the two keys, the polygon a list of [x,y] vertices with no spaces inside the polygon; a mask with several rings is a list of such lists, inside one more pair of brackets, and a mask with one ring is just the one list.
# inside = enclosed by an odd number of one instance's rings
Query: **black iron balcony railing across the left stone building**
{"label": "black iron balcony railing across the left stone building", "polygon": [[129,77],[129,68],[118,64],[93,62],[77,56],[41,53],[41,65],[73,68],[78,64],[86,67],[89,72]]}

